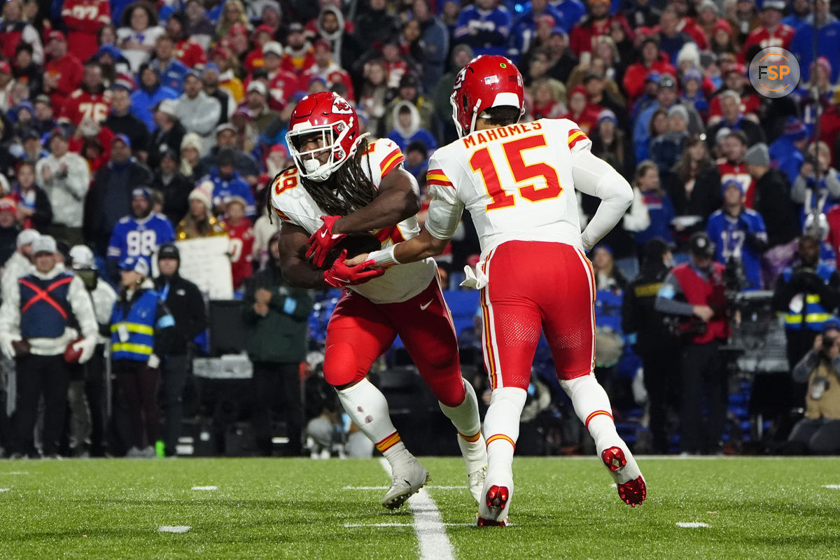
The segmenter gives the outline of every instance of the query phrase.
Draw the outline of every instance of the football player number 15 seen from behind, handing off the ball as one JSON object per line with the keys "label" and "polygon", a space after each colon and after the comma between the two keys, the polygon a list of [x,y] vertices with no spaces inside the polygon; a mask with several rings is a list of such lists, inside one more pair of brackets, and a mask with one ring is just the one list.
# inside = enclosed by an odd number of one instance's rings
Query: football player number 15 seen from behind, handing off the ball
{"label": "football player number 15 seen from behind, handing off the ball", "polygon": [[[433,195],[423,231],[356,259],[371,268],[404,266],[439,254],[467,208],[479,233],[481,260],[468,272],[481,290],[485,364],[491,404],[484,432],[488,467],[479,525],[507,524],[513,495],[513,451],[534,351],[545,332],[560,385],[595,439],[618,495],[641,504],[646,488],[618,437],[595,362],[595,278],[584,254],[621,219],[633,191],[591,154],[591,142],[567,119],[522,116],[522,76],[503,56],[479,56],[455,80],[451,102],[460,139],[429,162]],[[583,233],[575,188],[601,205]]]}

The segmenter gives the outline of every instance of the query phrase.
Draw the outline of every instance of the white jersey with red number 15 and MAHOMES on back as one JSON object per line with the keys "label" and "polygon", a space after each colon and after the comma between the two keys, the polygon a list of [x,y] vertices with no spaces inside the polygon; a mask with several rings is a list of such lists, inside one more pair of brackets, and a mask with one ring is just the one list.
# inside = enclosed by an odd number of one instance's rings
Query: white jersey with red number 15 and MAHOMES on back
{"label": "white jersey with red number 15 and MAHOMES on back", "polygon": [[475,131],[433,154],[429,190],[470,211],[482,258],[513,240],[580,249],[572,153],[591,144],[565,118]]}

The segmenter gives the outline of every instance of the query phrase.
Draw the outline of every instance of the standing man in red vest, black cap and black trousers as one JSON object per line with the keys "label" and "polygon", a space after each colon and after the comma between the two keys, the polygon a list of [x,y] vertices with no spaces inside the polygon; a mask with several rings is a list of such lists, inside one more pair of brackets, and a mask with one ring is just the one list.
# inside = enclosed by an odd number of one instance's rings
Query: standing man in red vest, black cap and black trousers
{"label": "standing man in red vest, black cap and black trousers", "polygon": [[690,261],[665,277],[654,308],[695,323],[680,360],[682,451],[718,453],[727,414],[727,369],[719,351],[729,338],[724,266],[712,260],[715,247],[705,232],[691,235],[689,252]]}

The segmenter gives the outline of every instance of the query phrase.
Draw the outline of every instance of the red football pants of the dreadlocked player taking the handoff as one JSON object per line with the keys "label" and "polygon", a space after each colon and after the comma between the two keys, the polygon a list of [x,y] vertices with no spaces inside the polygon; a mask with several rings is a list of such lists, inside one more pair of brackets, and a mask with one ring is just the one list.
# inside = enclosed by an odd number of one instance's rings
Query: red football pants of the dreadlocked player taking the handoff
{"label": "red football pants of the dreadlocked player taking the handoff", "polygon": [[446,406],[460,405],[465,390],[458,339],[437,278],[400,303],[377,304],[346,290],[327,325],[324,379],[335,387],[364,379],[396,335],[438,400]]}

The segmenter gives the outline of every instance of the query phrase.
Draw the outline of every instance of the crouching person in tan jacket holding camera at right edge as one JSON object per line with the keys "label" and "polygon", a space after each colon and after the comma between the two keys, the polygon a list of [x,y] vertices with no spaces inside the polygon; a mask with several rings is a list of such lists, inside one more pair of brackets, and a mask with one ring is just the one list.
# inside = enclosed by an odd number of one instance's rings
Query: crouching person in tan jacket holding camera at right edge
{"label": "crouching person in tan jacket holding camera at right edge", "polygon": [[793,379],[807,381],[805,417],[790,432],[785,453],[840,452],[840,321],[826,322],[814,346],[793,369]]}

